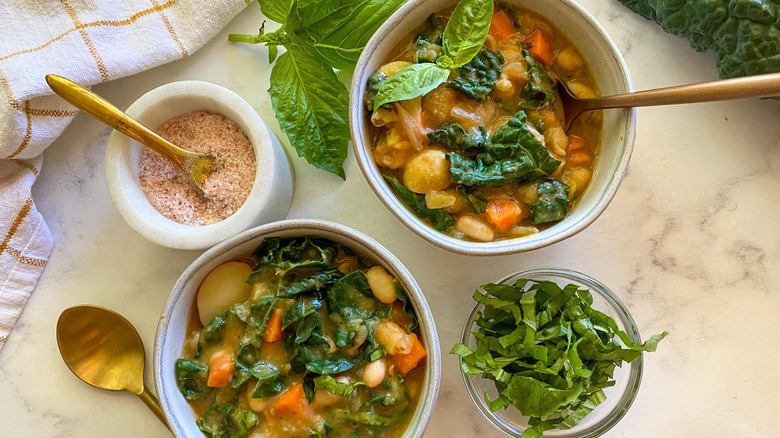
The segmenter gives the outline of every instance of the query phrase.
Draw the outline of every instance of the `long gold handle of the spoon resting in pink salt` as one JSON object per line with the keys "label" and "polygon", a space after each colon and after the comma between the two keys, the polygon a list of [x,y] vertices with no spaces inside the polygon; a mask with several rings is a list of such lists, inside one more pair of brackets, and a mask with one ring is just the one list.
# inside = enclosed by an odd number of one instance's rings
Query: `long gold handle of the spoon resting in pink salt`
{"label": "long gold handle of the spoon resting in pink salt", "polygon": [[186,157],[190,152],[179,148],[150,131],[117,107],[111,105],[107,100],[62,76],[46,75],[46,82],[55,93],[71,105],[122,134],[154,149],[160,155],[178,164],[179,167],[184,165]]}

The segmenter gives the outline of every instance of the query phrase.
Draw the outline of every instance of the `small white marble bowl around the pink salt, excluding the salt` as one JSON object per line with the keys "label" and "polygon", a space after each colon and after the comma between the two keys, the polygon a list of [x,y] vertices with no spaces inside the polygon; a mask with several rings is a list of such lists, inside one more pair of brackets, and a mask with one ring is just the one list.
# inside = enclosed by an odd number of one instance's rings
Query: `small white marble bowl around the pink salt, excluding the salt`
{"label": "small white marble bowl around the pink salt, excluding the salt", "polygon": [[114,131],[106,149],[106,183],[122,218],[142,236],[162,246],[203,249],[256,225],[283,219],[290,209],[293,173],[279,140],[238,94],[201,81],[172,82],[141,96],[126,113],[151,130],[191,111],[210,111],[234,121],[254,148],[254,184],[244,204],[210,225],[185,225],[163,216],[146,197],[138,178],[145,146]]}

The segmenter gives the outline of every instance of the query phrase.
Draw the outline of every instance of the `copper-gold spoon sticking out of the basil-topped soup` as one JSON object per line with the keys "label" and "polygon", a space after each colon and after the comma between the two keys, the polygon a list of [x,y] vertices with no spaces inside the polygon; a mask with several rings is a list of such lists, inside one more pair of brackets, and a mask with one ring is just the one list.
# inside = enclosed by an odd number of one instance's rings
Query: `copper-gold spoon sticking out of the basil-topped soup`
{"label": "copper-gold spoon sticking out of the basil-topped soup", "polygon": [[658,88],[614,96],[580,99],[558,80],[558,94],[566,113],[566,131],[581,114],[607,108],[676,105],[681,103],[716,102],[752,97],[780,96],[780,73],[723,79],[699,84]]}

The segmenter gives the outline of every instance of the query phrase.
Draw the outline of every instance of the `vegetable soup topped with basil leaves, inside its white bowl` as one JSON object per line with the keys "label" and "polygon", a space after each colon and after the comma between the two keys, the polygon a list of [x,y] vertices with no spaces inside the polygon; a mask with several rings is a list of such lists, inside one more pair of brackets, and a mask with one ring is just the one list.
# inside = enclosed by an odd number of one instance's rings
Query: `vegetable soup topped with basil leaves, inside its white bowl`
{"label": "vegetable soup topped with basil leaves, inside its white bowl", "polygon": [[369,79],[373,158],[399,199],[453,237],[528,236],[587,188],[600,116],[567,133],[560,78],[598,94],[577,48],[539,15],[463,0],[400,41]]}

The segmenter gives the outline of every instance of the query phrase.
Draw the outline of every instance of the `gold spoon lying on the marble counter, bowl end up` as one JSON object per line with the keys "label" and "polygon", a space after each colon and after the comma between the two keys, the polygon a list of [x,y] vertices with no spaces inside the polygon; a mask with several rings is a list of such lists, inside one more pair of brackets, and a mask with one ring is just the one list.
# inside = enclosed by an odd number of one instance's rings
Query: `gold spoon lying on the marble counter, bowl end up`
{"label": "gold spoon lying on the marble counter, bowl end up", "polygon": [[103,307],[71,307],[57,320],[57,347],[79,379],[136,394],[170,429],[157,397],[144,386],[144,345],[128,320]]}

